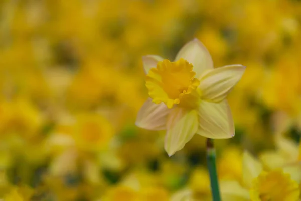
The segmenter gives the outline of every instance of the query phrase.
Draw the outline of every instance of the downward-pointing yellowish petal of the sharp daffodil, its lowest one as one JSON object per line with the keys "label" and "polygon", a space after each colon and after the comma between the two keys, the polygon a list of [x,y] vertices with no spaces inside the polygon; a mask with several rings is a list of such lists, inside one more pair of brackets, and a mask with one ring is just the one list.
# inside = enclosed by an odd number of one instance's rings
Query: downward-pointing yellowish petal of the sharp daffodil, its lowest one
{"label": "downward-pointing yellowish petal of the sharp daffodil, its lowest one", "polygon": [[198,130],[198,113],[196,110],[174,108],[167,118],[165,150],[169,156],[181,150]]}

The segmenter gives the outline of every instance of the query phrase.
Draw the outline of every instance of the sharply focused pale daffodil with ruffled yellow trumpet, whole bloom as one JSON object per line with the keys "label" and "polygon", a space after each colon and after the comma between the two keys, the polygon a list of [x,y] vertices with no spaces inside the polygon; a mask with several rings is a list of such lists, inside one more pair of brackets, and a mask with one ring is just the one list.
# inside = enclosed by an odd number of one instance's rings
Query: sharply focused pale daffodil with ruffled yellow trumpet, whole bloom
{"label": "sharply focused pale daffodil with ruffled yellow trumpet, whole bloom", "polygon": [[244,66],[213,68],[208,50],[197,39],[188,42],[174,62],[148,55],[143,57],[143,66],[149,98],[138,113],[136,125],[166,130],[169,156],[196,133],[212,139],[234,136],[225,98],[243,75]]}

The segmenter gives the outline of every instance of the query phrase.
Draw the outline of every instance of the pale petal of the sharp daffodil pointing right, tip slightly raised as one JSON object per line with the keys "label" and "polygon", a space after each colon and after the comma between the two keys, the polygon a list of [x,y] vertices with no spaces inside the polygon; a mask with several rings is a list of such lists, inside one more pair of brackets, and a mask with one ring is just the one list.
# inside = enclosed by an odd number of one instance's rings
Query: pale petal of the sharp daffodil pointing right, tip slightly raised
{"label": "pale petal of the sharp daffodil pointing right, tip slightly raised", "polygon": [[242,65],[229,65],[207,70],[200,78],[199,88],[202,91],[202,99],[211,102],[220,102],[225,99],[244,71],[245,67]]}

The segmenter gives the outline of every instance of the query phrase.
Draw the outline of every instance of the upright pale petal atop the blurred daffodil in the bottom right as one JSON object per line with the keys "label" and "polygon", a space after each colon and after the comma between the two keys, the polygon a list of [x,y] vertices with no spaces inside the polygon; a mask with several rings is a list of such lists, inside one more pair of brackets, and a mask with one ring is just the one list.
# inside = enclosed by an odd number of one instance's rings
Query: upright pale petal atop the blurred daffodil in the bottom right
{"label": "upright pale petal atop the blurred daffodil in the bottom right", "polygon": [[242,180],[245,186],[250,187],[252,181],[262,171],[262,165],[249,152],[244,151],[242,157]]}

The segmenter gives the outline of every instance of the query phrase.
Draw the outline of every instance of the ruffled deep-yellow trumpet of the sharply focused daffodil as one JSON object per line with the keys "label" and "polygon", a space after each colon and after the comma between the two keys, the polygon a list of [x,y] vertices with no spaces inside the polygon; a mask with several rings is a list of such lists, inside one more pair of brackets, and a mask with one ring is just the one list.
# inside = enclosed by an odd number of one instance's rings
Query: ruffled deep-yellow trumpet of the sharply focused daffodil
{"label": "ruffled deep-yellow trumpet of the sharply focused daffodil", "polygon": [[199,99],[196,89],[200,84],[195,75],[192,64],[184,59],[160,61],[146,76],[148,94],[154,103],[163,102],[168,108],[174,104],[193,107]]}

